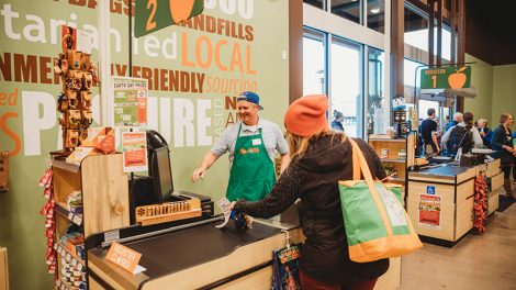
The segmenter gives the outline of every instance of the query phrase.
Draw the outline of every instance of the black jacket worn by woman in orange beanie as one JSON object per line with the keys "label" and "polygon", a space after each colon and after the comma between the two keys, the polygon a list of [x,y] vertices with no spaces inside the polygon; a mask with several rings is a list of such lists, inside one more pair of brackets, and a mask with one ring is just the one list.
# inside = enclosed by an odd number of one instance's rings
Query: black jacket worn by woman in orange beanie
{"label": "black jacket worn by woman in orange beanie", "polygon": [[[356,140],[371,174],[385,177],[378,155],[363,141]],[[344,228],[338,180],[352,179],[351,144],[339,137],[324,136],[311,144],[306,154],[291,163],[272,191],[258,202],[238,201],[236,209],[253,216],[270,217],[284,211],[298,198],[300,221],[306,236],[300,267],[307,276],[323,282],[341,283],[369,280],[384,274],[389,260],[354,263],[349,259]]]}

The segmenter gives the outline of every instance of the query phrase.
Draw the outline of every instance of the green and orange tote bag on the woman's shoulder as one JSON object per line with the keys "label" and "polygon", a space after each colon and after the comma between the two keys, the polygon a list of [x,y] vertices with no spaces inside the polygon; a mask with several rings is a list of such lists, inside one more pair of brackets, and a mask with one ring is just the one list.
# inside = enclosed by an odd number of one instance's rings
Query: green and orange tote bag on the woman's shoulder
{"label": "green and orange tote bag on the woman's shoulder", "polygon": [[[354,180],[339,181],[349,258],[366,263],[399,257],[423,244],[401,201],[401,188],[374,181],[357,143],[352,146]],[[364,180],[360,180],[360,171]]]}

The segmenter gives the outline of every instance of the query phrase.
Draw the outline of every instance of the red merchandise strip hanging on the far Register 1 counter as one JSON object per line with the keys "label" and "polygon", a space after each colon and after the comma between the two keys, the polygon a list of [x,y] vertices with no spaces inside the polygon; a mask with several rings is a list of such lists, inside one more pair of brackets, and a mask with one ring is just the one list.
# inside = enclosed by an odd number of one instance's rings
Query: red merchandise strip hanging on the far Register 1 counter
{"label": "red merchandise strip hanging on the far Register 1 counter", "polygon": [[473,228],[474,233],[482,235],[485,233],[485,220],[489,214],[487,185],[485,174],[479,172],[474,179],[474,203],[473,203]]}

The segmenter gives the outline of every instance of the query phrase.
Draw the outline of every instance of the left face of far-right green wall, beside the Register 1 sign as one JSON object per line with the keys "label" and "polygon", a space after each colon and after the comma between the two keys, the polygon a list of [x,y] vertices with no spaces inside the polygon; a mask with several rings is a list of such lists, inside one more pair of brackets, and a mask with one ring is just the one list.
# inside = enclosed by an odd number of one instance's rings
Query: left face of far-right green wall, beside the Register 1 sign
{"label": "left face of far-right green wall, beside the Register 1 sign", "polygon": [[493,66],[468,54],[465,62],[475,63],[471,65],[471,86],[476,88],[478,94],[473,99],[464,98],[464,112],[472,112],[475,120],[487,119],[492,126]]}

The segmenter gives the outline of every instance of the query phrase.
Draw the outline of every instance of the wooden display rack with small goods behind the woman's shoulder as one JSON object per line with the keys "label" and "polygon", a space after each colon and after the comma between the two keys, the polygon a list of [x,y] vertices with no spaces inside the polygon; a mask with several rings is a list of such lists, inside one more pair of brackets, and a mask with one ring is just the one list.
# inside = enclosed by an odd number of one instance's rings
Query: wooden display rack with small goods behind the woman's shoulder
{"label": "wooden display rack with small goods behind the woman's shoulder", "polygon": [[378,156],[380,156],[386,174],[391,175],[388,179],[389,182],[401,183],[404,192],[406,189],[407,169],[414,165],[415,160],[414,132],[410,133],[406,138],[392,138],[389,135],[371,134],[368,142]]}

